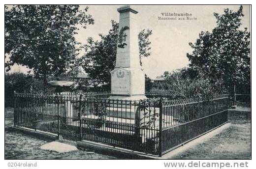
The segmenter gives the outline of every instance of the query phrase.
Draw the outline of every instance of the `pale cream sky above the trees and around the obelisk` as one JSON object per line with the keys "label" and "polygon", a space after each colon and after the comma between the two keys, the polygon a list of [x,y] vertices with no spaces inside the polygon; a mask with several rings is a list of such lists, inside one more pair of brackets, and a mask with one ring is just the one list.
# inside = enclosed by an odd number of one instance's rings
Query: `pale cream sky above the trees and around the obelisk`
{"label": "pale cream sky above the trees and around the obelisk", "polygon": [[[122,5],[88,5],[88,13],[95,20],[94,25],[86,29],[80,28],[76,40],[86,43],[88,37],[99,40],[99,33],[107,34],[111,28],[111,20],[119,21],[117,8]],[[194,43],[200,31],[211,31],[216,27],[216,18],[213,13],[222,14],[224,8],[238,10],[240,5],[131,5],[138,11],[138,30],[152,29],[150,36],[151,56],[143,58],[144,72],[151,78],[163,74],[164,71],[173,71],[188,66],[186,56],[192,49],[189,42]],[[84,5],[80,6],[85,7]],[[161,13],[189,13],[193,20],[159,20]],[[250,31],[250,6],[244,5],[242,27]],[[172,17],[173,18],[173,17]],[[194,20],[196,18],[196,20]],[[178,19],[178,18],[177,18]],[[80,53],[82,53],[81,51]],[[22,66],[13,66],[11,72],[26,72]]]}

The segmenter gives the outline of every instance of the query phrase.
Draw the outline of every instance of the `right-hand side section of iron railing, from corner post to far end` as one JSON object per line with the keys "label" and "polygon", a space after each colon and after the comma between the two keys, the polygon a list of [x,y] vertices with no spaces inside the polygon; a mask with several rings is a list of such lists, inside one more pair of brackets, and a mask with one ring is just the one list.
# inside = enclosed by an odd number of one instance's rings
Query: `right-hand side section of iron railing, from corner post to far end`
{"label": "right-hand side section of iron railing, from corner post to far end", "polygon": [[161,153],[227,122],[228,97],[162,103]]}

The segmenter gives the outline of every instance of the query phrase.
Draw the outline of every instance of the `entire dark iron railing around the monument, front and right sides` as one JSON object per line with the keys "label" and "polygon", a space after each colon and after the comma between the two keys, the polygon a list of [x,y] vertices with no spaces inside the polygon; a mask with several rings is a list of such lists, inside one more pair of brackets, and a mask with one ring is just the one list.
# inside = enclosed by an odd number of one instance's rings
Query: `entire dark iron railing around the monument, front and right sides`
{"label": "entire dark iron railing around the monument, front and right sides", "polygon": [[110,100],[110,93],[16,93],[14,124],[160,156],[227,121],[228,97]]}

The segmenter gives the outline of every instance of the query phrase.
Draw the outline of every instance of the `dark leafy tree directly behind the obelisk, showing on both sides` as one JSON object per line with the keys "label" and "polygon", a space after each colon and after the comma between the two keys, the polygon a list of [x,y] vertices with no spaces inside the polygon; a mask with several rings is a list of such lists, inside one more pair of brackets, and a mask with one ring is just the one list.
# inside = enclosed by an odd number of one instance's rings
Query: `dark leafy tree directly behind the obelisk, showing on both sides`
{"label": "dark leafy tree directly behind the obelisk, showing on both sides", "polygon": [[[99,34],[100,41],[94,41],[93,38],[87,39],[87,44],[84,46],[85,55],[78,60],[78,64],[92,78],[95,87],[103,84],[109,88],[110,71],[115,68],[119,24],[115,21],[111,23],[112,28],[107,35]],[[149,29],[143,29],[138,34],[140,65],[142,65],[141,58],[151,54],[148,39],[151,34],[152,30]]]}

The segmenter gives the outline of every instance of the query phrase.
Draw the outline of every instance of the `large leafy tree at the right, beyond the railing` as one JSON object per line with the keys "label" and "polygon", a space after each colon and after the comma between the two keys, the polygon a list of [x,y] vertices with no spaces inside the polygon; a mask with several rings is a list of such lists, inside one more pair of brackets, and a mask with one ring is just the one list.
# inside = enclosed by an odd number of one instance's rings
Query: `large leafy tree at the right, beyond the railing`
{"label": "large leafy tree at the right, beyond the railing", "polygon": [[211,83],[223,81],[219,84],[235,93],[236,84],[250,84],[250,33],[240,28],[243,6],[214,16],[217,27],[212,32],[202,31],[196,42],[190,43],[193,52],[187,57],[190,66],[207,75]]}

